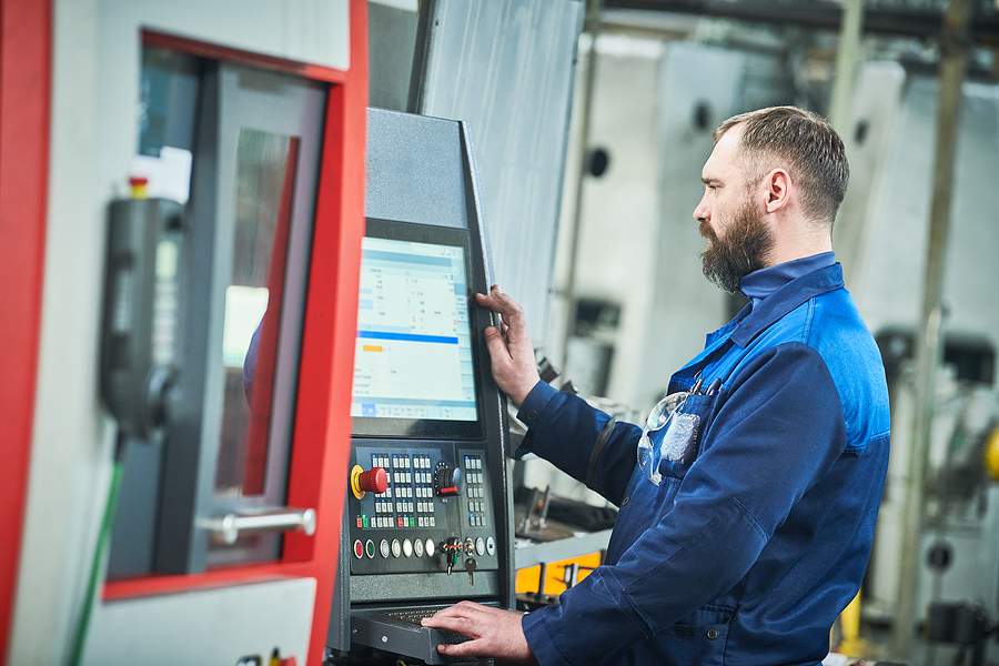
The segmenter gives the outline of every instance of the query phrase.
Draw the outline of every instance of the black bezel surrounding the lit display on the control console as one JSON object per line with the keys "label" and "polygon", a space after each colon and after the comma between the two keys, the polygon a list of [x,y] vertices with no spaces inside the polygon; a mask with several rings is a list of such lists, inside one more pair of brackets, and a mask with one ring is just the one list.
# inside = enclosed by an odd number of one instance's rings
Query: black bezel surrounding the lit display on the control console
{"label": "black bezel surrounding the lit display on the control console", "polygon": [[[478,345],[482,336],[477,324],[476,305],[472,300],[474,273],[472,270],[471,234],[465,229],[433,226],[412,222],[397,222],[377,218],[365,219],[365,238],[411,241],[432,245],[462,248],[465,256],[465,299],[468,304],[468,326],[472,335],[472,366],[475,369],[476,421],[445,421],[441,418],[390,418],[351,416],[351,436],[394,437],[398,440],[478,440],[483,433],[483,385],[478,376]],[[363,259],[362,259],[363,262]],[[359,283],[360,289],[360,283]],[[355,360],[356,363],[356,360]],[[354,395],[351,392],[351,406]]]}

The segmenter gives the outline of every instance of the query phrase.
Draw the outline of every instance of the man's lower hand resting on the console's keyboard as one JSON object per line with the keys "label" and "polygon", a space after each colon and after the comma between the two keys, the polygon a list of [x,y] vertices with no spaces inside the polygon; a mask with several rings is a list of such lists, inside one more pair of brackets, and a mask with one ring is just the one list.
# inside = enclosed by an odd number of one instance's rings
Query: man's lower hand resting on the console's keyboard
{"label": "man's lower hand resting on the console's keyboard", "polygon": [[534,656],[521,626],[523,613],[461,602],[422,620],[423,626],[457,632],[472,638],[466,643],[438,645],[447,657],[493,657],[503,662],[534,664]]}

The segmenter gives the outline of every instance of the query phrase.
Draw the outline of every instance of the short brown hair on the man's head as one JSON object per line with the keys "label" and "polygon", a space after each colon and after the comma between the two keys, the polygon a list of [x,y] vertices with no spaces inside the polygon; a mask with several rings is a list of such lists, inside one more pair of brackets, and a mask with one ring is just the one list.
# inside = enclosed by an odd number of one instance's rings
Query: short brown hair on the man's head
{"label": "short brown hair on the man's head", "polygon": [[770,169],[787,169],[798,184],[805,214],[831,225],[846,194],[850,165],[842,139],[829,121],[797,107],[770,107],[733,115],[712,134],[715,143],[739,124],[744,125],[739,150],[753,165],[754,182]]}

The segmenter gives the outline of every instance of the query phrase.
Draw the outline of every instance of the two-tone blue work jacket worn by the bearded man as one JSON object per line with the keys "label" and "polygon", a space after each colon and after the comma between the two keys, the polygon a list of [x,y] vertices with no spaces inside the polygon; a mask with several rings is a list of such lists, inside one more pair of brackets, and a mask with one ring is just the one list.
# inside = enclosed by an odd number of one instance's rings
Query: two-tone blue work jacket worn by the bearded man
{"label": "two-tone blue work jacket worn by the bearded man", "polygon": [[605,564],[524,616],[547,664],[820,663],[867,567],[889,411],[878,349],[824,253],[753,273],[751,302],[708,334],[668,392],[689,428],[662,482],[642,430],[538,383],[532,451],[620,507]]}

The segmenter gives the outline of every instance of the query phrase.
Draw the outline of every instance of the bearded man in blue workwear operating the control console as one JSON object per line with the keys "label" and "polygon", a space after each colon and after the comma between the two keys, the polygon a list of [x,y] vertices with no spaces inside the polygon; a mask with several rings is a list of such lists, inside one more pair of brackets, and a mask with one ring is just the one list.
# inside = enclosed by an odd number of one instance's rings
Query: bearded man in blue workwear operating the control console
{"label": "bearded man in blue workwear operating the control console", "polygon": [[486,331],[525,448],[620,506],[604,566],[521,615],[463,602],[425,620],[448,656],[541,664],[818,664],[867,566],[888,463],[878,350],[831,248],[849,169],[790,107],[715,132],[694,210],[705,275],[750,300],[669,380],[645,427],[538,381],[519,307]]}

